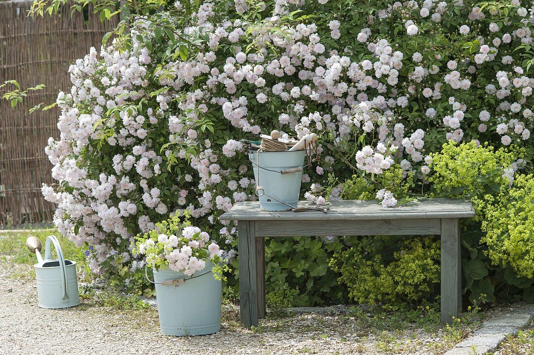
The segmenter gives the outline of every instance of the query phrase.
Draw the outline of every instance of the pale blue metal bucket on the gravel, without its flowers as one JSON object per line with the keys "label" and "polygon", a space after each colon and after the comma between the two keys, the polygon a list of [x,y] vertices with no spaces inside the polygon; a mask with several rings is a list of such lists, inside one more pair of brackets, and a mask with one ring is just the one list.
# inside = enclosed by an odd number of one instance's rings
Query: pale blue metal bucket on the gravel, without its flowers
{"label": "pale blue metal bucket on the gravel, without its flowers", "polygon": [[[222,282],[213,278],[214,266],[207,262],[193,278],[169,269],[154,270],[161,334],[205,335],[221,330]],[[185,281],[161,284],[179,279]]]}

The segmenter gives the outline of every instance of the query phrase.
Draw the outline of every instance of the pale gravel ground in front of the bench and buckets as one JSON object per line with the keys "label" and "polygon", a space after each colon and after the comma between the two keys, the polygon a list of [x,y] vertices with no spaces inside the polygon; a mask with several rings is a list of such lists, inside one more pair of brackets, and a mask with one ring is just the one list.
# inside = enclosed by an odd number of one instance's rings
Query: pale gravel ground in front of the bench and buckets
{"label": "pale gravel ground in front of the bench and buckets", "polygon": [[[0,259],[0,354],[442,354],[457,333],[427,333],[416,326],[376,330],[348,307],[294,313],[262,320],[254,332],[238,324],[237,307],[223,307],[221,332],[195,337],[159,333],[155,307],[117,310],[90,301],[64,310],[37,307],[35,280],[27,265]],[[459,334],[458,334],[459,333]],[[453,336],[454,335],[454,336]]]}

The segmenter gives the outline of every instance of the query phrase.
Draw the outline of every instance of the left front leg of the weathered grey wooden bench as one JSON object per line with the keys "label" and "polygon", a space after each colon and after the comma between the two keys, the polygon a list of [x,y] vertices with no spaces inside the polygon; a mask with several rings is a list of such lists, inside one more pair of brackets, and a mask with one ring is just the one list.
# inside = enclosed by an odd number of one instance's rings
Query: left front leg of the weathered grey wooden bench
{"label": "left front leg of the weathered grey wooden bench", "polygon": [[239,304],[247,328],[258,325],[255,228],[254,222],[238,222]]}

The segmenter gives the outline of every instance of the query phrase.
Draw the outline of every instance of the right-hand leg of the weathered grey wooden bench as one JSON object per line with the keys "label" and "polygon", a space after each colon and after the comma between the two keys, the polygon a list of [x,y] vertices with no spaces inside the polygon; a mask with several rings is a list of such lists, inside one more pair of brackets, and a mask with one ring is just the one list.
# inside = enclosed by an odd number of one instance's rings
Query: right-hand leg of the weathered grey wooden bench
{"label": "right-hand leg of the weathered grey wooden bench", "polygon": [[441,220],[441,322],[451,324],[462,307],[460,221]]}

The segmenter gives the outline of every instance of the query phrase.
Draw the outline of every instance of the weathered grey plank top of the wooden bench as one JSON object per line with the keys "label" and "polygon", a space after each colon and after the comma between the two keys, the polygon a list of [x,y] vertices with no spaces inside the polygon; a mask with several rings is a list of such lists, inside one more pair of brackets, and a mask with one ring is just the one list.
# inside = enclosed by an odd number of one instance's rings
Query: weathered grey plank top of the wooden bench
{"label": "weathered grey plank top of the wooden bench", "polygon": [[[305,201],[299,207],[310,206]],[[474,217],[470,201],[433,199],[411,202],[408,206],[383,208],[376,201],[329,201],[328,212],[269,212],[260,210],[260,202],[237,202],[223,214],[222,220],[335,220],[335,219],[405,219],[405,218],[467,218]]]}

